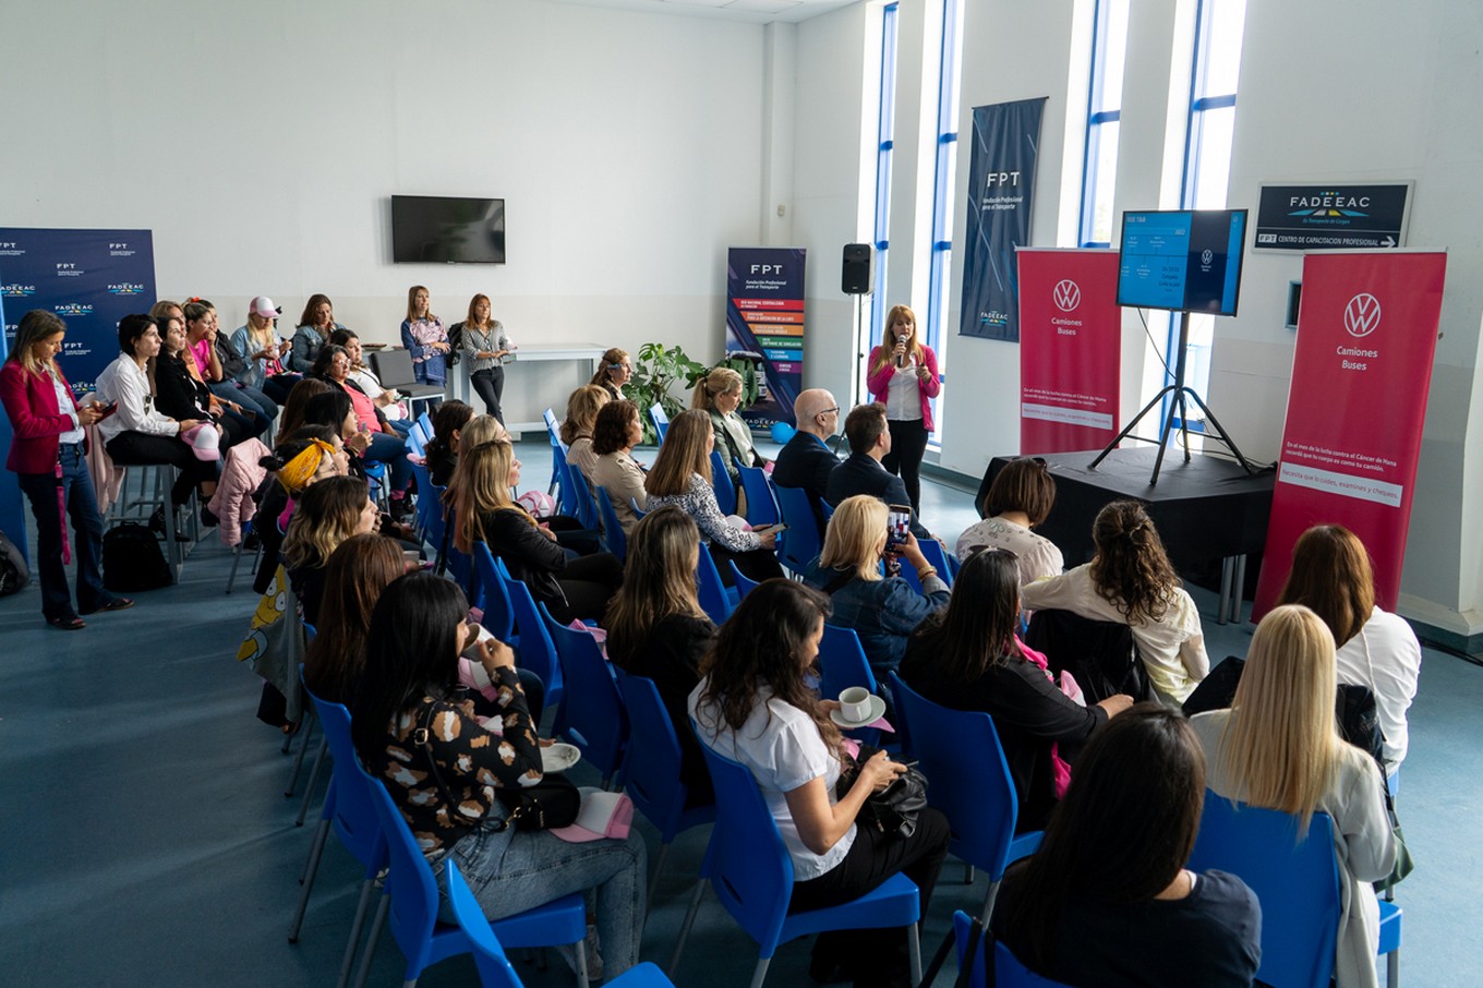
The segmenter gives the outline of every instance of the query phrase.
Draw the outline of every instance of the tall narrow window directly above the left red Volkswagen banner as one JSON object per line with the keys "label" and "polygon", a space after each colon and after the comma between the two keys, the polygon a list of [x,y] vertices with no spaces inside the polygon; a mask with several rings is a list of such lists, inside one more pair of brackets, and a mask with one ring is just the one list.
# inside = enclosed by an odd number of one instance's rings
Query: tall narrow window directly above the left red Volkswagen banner
{"label": "tall narrow window directly above the left red Volkswagen banner", "polygon": [[1129,0],[1096,0],[1091,85],[1087,88],[1087,144],[1081,168],[1081,246],[1112,246],[1112,190],[1123,119],[1123,65],[1127,56]]}

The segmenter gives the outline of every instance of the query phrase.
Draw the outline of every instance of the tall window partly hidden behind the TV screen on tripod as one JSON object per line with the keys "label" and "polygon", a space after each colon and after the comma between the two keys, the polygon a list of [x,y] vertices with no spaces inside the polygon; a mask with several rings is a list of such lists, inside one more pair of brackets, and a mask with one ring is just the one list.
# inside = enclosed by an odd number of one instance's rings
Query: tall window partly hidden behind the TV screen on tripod
{"label": "tall window partly hidden behind the TV screen on tripod", "polygon": [[[1231,178],[1231,138],[1235,134],[1235,85],[1241,68],[1246,0],[1198,0],[1198,4],[1179,200],[1183,209],[1223,209]],[[1201,398],[1210,389],[1213,341],[1215,316],[1191,316],[1185,383]],[[1170,366],[1178,356],[1178,346],[1179,320],[1170,319]],[[1204,412],[1194,404],[1186,411],[1191,432],[1204,432]]]}

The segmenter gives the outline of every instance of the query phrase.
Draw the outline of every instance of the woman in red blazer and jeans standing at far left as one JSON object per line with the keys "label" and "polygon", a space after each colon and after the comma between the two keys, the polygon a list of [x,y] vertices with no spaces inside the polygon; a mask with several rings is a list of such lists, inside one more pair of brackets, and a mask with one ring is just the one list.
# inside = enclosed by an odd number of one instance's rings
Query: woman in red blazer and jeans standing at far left
{"label": "woman in red blazer and jeans standing at far left", "polygon": [[[0,401],[15,432],[6,469],[19,476],[36,515],[42,614],[52,628],[77,630],[86,626],[79,611],[122,611],[133,607],[133,601],[108,593],[98,570],[102,518],[83,455],[83,426],[93,424],[105,411],[96,402],[79,406],[56,366],[65,335],[67,325],[55,314],[43,309],[25,313],[15,332],[15,349],[0,368]],[[67,543],[64,510],[73,518],[73,546]],[[64,568],[73,547],[77,555],[76,611]]]}

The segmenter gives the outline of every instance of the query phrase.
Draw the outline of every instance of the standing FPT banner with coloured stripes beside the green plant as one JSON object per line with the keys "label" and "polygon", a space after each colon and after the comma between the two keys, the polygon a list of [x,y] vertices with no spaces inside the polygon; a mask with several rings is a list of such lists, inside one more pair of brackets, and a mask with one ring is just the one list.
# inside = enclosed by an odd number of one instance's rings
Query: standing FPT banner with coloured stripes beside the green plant
{"label": "standing FPT banner with coloured stripes beside the green plant", "polygon": [[731,248],[727,257],[727,356],[752,359],[762,375],[752,429],[793,421],[804,380],[804,249]]}

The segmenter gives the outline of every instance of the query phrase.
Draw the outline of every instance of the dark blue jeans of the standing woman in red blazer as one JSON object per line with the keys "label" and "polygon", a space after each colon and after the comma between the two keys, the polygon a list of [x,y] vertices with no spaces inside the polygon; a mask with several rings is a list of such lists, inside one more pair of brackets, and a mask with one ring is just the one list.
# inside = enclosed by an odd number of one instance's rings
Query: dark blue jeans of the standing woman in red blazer
{"label": "dark blue jeans of the standing woman in red blazer", "polygon": [[67,590],[67,570],[62,565],[62,513],[56,500],[56,485],[62,487],[62,503],[73,518],[73,559],[77,562],[77,607],[96,611],[110,604],[113,595],[102,586],[98,564],[102,559],[102,518],[93,495],[87,460],[82,444],[61,448],[62,476],[50,473],[21,473],[21,490],[31,500],[36,516],[36,565],[42,577],[42,614],[47,620],[74,617],[73,598]]}

